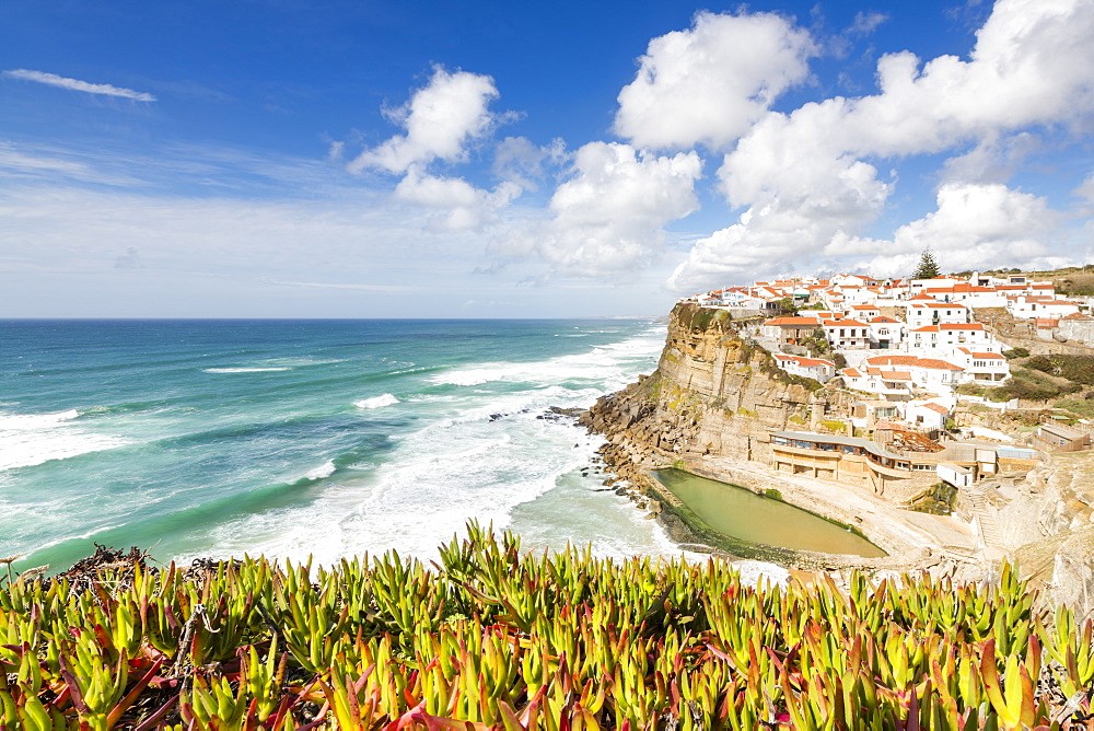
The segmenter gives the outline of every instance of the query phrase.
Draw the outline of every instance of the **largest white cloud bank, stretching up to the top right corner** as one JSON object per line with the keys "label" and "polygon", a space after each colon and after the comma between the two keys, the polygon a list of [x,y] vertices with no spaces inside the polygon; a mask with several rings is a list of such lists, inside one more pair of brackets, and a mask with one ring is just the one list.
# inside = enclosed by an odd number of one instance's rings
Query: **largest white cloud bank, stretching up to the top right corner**
{"label": "largest white cloud bank, stretching up to the top right corner", "polygon": [[[979,185],[981,195],[965,206],[975,209],[984,192],[996,190],[991,184],[1004,182],[1036,149],[1031,128],[1063,124],[1079,129],[1090,120],[1091,37],[1094,0],[999,0],[968,60],[941,56],[921,65],[910,53],[891,54],[877,63],[877,94],[837,96],[790,114],[766,113],[718,172],[729,204],[747,214],[697,242],[670,286],[689,290],[718,283],[719,275],[763,260],[758,252],[778,251],[800,268],[829,245],[835,245],[829,253],[865,245],[861,234],[884,209],[896,183],[892,175],[880,179],[878,160],[973,143],[973,151],[952,160],[943,173],[940,210],[943,202],[956,209],[955,190],[974,189],[963,184]],[[980,209],[982,216],[996,217],[984,225],[1017,214],[1013,206],[999,202]],[[1039,255],[1029,248],[1036,240],[1031,232],[1004,251],[1021,250],[1032,260]],[[772,250],[779,242],[780,248]]]}

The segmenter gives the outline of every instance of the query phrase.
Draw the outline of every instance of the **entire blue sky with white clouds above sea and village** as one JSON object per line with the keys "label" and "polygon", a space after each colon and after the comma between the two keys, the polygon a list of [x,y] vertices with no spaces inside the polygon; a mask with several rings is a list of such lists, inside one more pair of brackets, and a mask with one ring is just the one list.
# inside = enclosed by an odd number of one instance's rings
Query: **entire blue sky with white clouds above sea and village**
{"label": "entire blue sky with white clouds above sea and village", "polygon": [[0,5],[0,316],[1094,262],[1094,0]]}

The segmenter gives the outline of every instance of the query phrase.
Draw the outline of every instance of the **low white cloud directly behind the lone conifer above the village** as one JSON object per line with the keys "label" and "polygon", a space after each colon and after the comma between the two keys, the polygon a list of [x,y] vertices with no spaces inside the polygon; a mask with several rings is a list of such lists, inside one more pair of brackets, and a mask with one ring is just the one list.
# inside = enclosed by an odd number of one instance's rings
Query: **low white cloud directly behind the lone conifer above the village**
{"label": "low white cloud directly behind the lone conifer above the village", "polygon": [[1051,268],[1070,263],[1054,246],[1061,222],[1043,197],[998,183],[946,184],[939,189],[938,210],[900,227],[892,241],[838,237],[824,253],[875,254],[863,268],[883,277],[907,276],[928,246],[943,268],[955,271],[992,265]]}

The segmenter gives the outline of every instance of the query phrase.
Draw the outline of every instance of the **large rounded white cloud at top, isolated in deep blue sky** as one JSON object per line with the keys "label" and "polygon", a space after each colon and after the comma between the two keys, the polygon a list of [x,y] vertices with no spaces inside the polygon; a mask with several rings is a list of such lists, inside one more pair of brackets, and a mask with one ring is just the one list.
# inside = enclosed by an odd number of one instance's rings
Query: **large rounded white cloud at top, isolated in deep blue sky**
{"label": "large rounded white cloud at top, isolated in deep blue sky", "polygon": [[638,147],[724,148],[808,68],[808,34],[771,14],[696,14],[688,31],[650,42],[619,92],[614,131]]}

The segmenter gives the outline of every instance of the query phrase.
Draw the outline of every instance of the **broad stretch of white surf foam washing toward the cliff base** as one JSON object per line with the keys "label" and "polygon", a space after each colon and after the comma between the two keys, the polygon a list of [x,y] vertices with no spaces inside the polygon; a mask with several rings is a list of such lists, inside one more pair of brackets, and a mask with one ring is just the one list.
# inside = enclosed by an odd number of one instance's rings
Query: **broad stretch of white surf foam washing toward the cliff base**
{"label": "broad stretch of white surf foam washing toward the cliff base", "polygon": [[[498,380],[512,387],[405,398],[406,411],[420,426],[392,433],[393,451],[358,477],[325,483],[306,507],[214,526],[209,541],[226,553],[261,552],[294,560],[311,554],[323,565],[388,548],[428,559],[435,558],[439,543],[462,534],[465,521],[476,518],[499,531],[519,529],[532,549],[589,541],[601,556],[679,555],[629,501],[597,491],[603,476],[581,475],[602,438],[565,419],[536,418],[548,406],[587,406],[649,372],[662,344],[663,329],[651,329],[583,355],[438,373],[434,384]],[[354,405],[379,408],[372,405],[391,399],[392,394],[383,394]]]}

